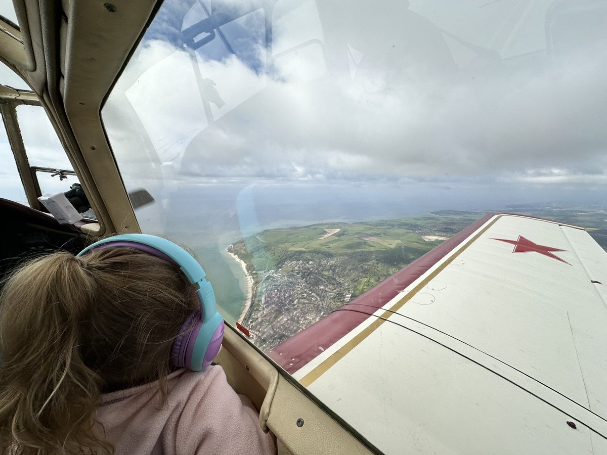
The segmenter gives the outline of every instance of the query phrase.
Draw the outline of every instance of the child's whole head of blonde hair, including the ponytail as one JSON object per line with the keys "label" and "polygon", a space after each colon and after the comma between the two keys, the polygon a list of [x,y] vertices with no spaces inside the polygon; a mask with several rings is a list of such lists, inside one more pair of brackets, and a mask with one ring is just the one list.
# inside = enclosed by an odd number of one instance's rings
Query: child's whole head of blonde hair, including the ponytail
{"label": "child's whole head of blonde hair, including the ponytail", "polygon": [[101,394],[159,381],[198,307],[178,266],[130,248],[30,261],[0,297],[0,453],[113,453]]}

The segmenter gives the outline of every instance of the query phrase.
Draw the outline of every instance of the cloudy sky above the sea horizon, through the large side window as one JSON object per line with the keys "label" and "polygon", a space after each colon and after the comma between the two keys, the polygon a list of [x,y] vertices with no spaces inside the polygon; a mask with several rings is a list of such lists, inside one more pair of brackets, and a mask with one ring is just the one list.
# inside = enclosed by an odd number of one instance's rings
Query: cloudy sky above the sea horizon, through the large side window
{"label": "cloudy sky above the sea horizon, through the large side window", "polygon": [[102,110],[129,189],[604,200],[600,2],[273,3],[164,2]]}

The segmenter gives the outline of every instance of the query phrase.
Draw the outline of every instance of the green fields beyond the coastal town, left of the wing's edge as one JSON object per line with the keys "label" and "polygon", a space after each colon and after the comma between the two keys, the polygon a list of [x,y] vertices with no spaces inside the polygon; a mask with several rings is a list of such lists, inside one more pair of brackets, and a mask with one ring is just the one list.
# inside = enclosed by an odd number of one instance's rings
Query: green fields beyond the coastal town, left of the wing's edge
{"label": "green fields beyond the coastal town, left of the wing's edge", "polygon": [[[293,262],[302,261],[310,263],[310,274],[341,277],[356,297],[442,243],[424,240],[423,235],[448,238],[481,216],[445,212],[397,220],[271,229],[235,243],[234,252],[245,261],[249,272],[256,272],[252,274],[256,285],[257,273],[276,270],[287,275],[293,271]],[[302,275],[302,268],[298,274]]]}

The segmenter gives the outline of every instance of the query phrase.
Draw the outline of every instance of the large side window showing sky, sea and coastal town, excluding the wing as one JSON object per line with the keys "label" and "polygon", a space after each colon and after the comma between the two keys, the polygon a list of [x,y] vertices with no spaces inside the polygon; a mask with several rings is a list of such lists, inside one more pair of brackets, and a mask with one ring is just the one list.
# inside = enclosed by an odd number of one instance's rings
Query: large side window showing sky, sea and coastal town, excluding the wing
{"label": "large side window showing sky, sea and coastal town, excluding the wing", "polygon": [[165,0],[101,111],[140,226],[268,351],[481,213],[604,209],[607,7],[582,3]]}

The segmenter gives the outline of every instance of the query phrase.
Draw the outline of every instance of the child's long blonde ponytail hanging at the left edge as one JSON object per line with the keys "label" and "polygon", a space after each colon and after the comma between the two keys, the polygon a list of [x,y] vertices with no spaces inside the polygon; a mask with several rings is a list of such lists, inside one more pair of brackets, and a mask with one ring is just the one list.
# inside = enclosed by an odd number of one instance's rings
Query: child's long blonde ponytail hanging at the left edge
{"label": "child's long blonde ponytail hanging at the left edge", "polygon": [[90,419],[100,377],[79,352],[78,325],[95,281],[69,253],[25,269],[8,280],[0,302],[0,453],[111,451]]}

